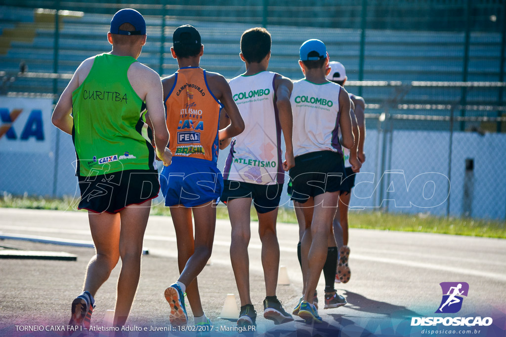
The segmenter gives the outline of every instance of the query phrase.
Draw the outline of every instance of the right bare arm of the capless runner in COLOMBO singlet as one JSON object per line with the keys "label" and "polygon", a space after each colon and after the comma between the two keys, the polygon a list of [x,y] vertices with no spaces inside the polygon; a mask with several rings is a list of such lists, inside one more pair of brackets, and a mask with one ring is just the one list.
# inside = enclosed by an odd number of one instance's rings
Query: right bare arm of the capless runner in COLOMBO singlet
{"label": "right bare arm of the capless runner in COLOMBO singlet", "polygon": [[274,80],[276,89],[276,106],[279,111],[279,122],[285,140],[285,161],[283,162],[283,170],[288,171],[295,166],[295,159],[293,158],[293,114],[291,111],[290,95],[293,90],[293,83],[289,78],[276,75]]}

